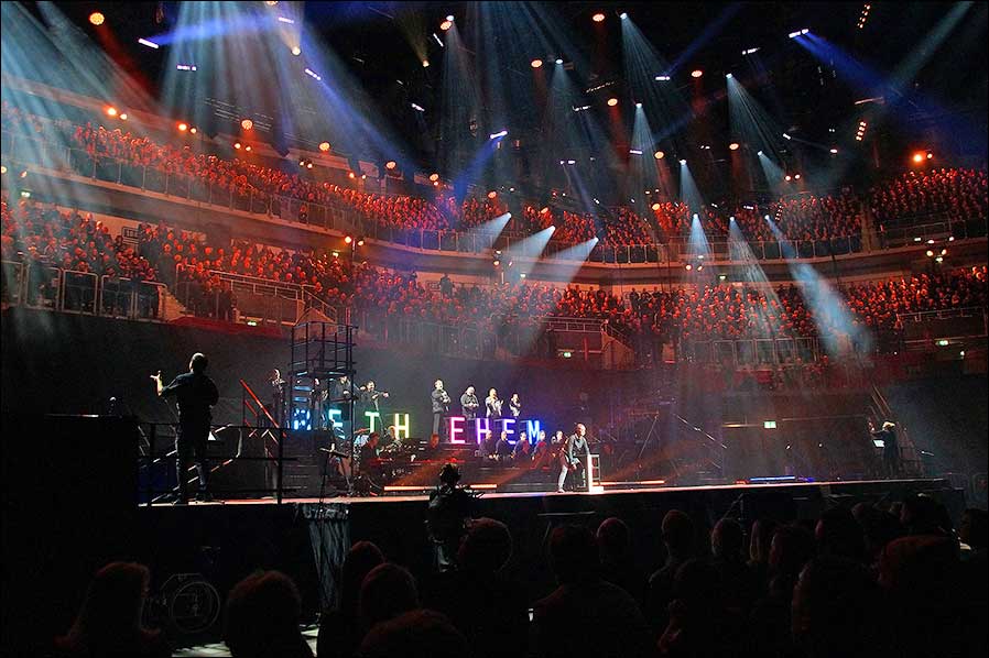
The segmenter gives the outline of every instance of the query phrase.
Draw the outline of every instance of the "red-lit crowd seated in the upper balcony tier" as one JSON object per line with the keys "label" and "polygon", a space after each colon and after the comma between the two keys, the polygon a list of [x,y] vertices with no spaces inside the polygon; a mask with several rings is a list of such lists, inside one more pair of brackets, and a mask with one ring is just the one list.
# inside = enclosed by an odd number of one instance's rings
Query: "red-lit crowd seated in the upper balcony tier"
{"label": "red-lit crowd seated in the upper balcony tier", "polygon": [[[6,130],[39,134],[52,122],[3,103]],[[65,132],[65,122],[59,132]],[[169,175],[181,175],[202,185],[229,194],[230,198],[259,197],[275,211],[274,197],[298,201],[293,219],[306,221],[308,205],[334,205],[357,212],[365,222],[379,229],[401,230],[469,230],[509,210],[496,198],[467,198],[458,202],[452,197],[436,199],[412,196],[388,196],[366,193],[329,183],[318,183],[297,171],[281,171],[253,164],[239,157],[225,158],[197,153],[189,145],[159,143],[148,136],[86,123],[75,125],[70,139],[90,158],[121,160],[137,166]],[[181,188],[181,186],[180,186]],[[650,210],[642,215],[630,207],[602,210],[598,213],[550,210],[526,206],[513,217],[509,229],[531,233],[550,224],[557,227],[555,242],[576,243],[597,237],[602,245],[640,245],[665,242],[689,234],[692,211],[683,202],[648,199]],[[986,169],[939,168],[914,171],[872,187],[862,195],[843,189],[834,196],[802,194],[781,198],[771,204],[740,205],[733,209],[706,206],[698,210],[698,219],[710,240],[724,240],[729,232],[728,216],[736,217],[742,233],[754,241],[772,241],[775,235],[764,216],[770,216],[782,234],[790,240],[822,241],[835,238],[858,238],[862,216],[869,210],[877,229],[903,221],[930,221],[946,217],[953,221],[982,220],[987,217]],[[284,216],[283,210],[278,213]],[[649,218],[649,221],[645,221]]]}

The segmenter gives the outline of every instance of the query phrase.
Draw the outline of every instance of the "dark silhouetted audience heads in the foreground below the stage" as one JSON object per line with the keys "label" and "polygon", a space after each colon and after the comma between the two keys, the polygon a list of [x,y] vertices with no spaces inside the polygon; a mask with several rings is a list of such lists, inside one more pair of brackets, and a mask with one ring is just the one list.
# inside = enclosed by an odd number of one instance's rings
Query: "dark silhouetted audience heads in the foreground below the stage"
{"label": "dark silhouetted audience heads in the foreground below the stage", "polygon": [[[817,518],[709,520],[671,509],[653,523],[662,546],[640,539],[639,551],[628,547],[645,528],[617,517],[595,524],[596,534],[556,527],[544,548],[555,585],[542,592],[509,568],[518,529],[492,518],[466,519],[456,563],[445,570],[413,574],[401,566],[412,556],[357,541],[337,603],[320,615],[316,655],[926,658],[987,650],[985,509],[966,509],[956,527],[937,498],[911,494],[836,505]],[[650,564],[657,568],[648,575]],[[55,655],[170,655],[164,634],[141,621],[149,583],[140,564],[100,570]],[[235,658],[311,657],[302,617],[295,583],[259,571],[227,596],[225,641]]]}

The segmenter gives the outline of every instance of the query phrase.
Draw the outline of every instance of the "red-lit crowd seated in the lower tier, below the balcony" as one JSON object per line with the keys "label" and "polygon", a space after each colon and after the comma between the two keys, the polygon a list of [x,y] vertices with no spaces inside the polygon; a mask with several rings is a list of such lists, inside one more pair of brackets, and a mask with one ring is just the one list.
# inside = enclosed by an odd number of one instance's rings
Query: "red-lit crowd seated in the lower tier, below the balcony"
{"label": "red-lit crowd seated in the lower tier, below the balcony", "polygon": [[[540,318],[607,320],[646,339],[680,344],[694,340],[814,338],[849,332],[848,319],[895,337],[903,314],[987,306],[986,266],[856,283],[839,295],[848,310],[815,310],[801,288],[729,284],[635,289],[621,298],[601,288],[520,282],[498,286],[453,285],[432,289],[413,274],[351,264],[329,253],[273,249],[233,241],[210,245],[164,224],[141,224],[137,248],[79,212],[20,199],[2,205],[3,260],[21,257],[65,270],[141,281],[162,281],[196,315],[232,319],[232,290],[217,272],[305,285],[332,307],[481,331],[537,330]],[[22,254],[19,256],[18,254]],[[189,290],[195,294],[189,294]],[[892,344],[892,343],[891,343]]]}

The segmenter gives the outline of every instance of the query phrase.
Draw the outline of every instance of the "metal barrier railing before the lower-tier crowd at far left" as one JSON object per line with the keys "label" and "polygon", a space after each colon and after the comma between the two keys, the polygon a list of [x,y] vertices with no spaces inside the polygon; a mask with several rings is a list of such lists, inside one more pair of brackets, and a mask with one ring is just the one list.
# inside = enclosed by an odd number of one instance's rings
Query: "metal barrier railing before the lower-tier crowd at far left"
{"label": "metal barrier railing before the lower-tier crowd at far left", "polygon": [[2,272],[3,301],[13,306],[129,320],[164,318],[167,288],[159,282],[99,276],[40,261],[3,261]]}

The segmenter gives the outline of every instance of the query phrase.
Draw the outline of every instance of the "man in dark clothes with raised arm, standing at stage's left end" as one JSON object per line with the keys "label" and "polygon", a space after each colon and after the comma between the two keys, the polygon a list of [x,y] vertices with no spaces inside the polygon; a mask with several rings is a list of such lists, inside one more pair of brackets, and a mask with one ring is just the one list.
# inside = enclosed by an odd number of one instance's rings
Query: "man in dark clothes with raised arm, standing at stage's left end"
{"label": "man in dark clothes with raised arm, standing at stage's left end", "polygon": [[196,352],[189,360],[189,371],[181,374],[167,386],[162,386],[162,373],[151,375],[154,380],[159,397],[175,396],[178,399],[178,436],[175,438],[175,462],[178,479],[180,505],[188,502],[188,484],[186,471],[188,470],[189,453],[196,460],[196,471],[199,474],[199,492],[196,498],[209,500],[209,461],[206,457],[206,442],[209,439],[209,407],[219,402],[220,394],[208,376],[206,366],[209,361],[206,354]]}

